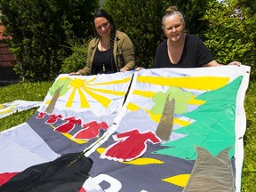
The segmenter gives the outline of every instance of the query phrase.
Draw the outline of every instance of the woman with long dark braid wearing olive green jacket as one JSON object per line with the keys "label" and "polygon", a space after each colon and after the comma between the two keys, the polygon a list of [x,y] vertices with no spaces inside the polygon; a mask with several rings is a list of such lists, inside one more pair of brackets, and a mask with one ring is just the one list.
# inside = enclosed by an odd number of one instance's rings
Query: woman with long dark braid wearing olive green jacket
{"label": "woman with long dark braid wearing olive green jacket", "polygon": [[134,48],[129,36],[116,30],[108,12],[100,9],[92,20],[97,36],[88,47],[87,63],[83,69],[69,75],[96,75],[124,72],[135,67]]}

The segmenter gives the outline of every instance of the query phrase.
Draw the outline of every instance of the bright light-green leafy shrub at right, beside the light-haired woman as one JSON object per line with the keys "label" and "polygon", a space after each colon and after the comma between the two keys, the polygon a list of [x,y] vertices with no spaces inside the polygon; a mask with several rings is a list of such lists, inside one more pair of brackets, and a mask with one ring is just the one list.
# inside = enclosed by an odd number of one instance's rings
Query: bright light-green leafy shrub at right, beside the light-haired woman
{"label": "bright light-green leafy shrub at right, beside the light-haired woman", "polygon": [[[225,4],[212,0],[203,19],[209,22],[204,33],[205,44],[215,59],[224,64],[239,60],[253,69],[256,55],[255,22],[253,24],[253,18],[246,15],[244,7],[239,6],[236,0],[227,0]],[[255,79],[253,70],[252,78]]]}

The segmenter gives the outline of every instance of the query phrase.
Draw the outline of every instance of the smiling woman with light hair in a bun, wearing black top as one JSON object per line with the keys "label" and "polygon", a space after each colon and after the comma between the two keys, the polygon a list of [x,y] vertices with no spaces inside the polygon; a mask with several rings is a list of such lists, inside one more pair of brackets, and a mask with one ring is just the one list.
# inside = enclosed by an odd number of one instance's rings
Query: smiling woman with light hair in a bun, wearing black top
{"label": "smiling woman with light hair in a bun, wearing black top", "polygon": [[[222,66],[212,56],[203,41],[185,32],[185,20],[176,6],[169,7],[163,17],[167,37],[156,49],[154,68],[199,68]],[[228,65],[240,66],[233,61]]]}

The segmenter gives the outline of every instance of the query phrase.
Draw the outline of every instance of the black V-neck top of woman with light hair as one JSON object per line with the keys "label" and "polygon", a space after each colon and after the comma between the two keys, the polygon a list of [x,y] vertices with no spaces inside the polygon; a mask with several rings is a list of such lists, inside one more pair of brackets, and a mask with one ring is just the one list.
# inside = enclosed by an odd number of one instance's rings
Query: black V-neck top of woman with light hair
{"label": "black V-neck top of woman with light hair", "polygon": [[199,68],[214,60],[212,52],[203,41],[193,35],[186,35],[184,49],[178,64],[172,64],[167,52],[167,39],[158,45],[154,68]]}

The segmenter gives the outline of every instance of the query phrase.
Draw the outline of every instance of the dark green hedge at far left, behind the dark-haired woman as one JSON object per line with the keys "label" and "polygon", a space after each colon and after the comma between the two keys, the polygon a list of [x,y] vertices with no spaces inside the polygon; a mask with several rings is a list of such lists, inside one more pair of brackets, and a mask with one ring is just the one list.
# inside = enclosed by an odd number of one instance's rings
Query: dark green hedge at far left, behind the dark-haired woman
{"label": "dark green hedge at far left, behind the dark-haired woman", "polygon": [[92,34],[92,12],[99,1],[0,0],[5,34],[22,68],[16,71],[30,80],[44,80],[60,72],[61,59],[70,54],[62,45],[68,38]]}

